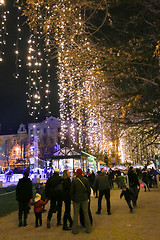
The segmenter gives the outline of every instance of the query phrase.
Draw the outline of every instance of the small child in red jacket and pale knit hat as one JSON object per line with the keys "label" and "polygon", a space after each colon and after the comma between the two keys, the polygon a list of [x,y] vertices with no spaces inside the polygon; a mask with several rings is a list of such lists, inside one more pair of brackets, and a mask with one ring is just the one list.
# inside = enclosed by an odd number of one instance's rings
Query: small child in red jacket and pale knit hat
{"label": "small child in red jacket and pale knit hat", "polygon": [[43,206],[47,204],[47,202],[48,202],[48,199],[46,199],[45,201],[41,200],[41,195],[39,193],[36,193],[34,202],[32,201],[32,199],[30,200],[30,204],[34,206],[35,227],[38,227],[39,225],[42,226]]}

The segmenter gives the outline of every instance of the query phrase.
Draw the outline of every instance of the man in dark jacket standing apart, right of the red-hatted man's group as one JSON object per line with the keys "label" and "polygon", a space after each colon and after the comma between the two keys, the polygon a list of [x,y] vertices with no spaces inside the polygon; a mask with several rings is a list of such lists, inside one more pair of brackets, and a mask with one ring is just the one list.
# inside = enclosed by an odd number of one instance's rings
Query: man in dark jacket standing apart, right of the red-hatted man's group
{"label": "man in dark jacket standing apart, right of the red-hatted man's group", "polygon": [[111,215],[110,211],[110,181],[108,175],[105,174],[104,168],[101,169],[101,173],[96,176],[94,182],[94,191],[99,190],[99,197],[98,197],[98,210],[96,214],[101,214],[101,202],[103,195],[105,195],[106,202],[107,202],[107,212],[108,215]]}

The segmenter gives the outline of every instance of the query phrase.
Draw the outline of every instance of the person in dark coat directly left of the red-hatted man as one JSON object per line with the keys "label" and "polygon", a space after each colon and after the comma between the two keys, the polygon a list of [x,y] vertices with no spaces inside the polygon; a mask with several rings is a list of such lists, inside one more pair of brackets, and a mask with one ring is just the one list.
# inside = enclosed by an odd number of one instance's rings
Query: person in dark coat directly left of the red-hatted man
{"label": "person in dark coat directly left of the red-hatted man", "polygon": [[[63,201],[65,204],[65,211],[63,215],[63,230],[71,230],[72,228],[72,218],[71,218],[71,180],[70,172],[68,170],[63,171]],[[67,226],[67,220],[69,221],[69,227]]]}

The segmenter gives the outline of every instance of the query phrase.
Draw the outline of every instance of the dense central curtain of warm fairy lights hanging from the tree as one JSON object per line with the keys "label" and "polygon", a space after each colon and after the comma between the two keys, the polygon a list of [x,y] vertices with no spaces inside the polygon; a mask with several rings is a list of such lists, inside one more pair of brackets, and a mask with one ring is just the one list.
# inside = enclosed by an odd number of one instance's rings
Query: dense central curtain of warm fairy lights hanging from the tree
{"label": "dense central curtain of warm fairy lights hanging from the tree", "polygon": [[[92,58],[92,48],[87,38],[83,39],[84,29],[83,29],[83,21],[81,16],[81,8],[75,8],[76,16],[78,18],[74,18],[75,22],[72,25],[73,33],[67,33],[67,14],[68,11],[67,5],[60,5],[59,1],[58,7],[62,10],[62,13],[58,19],[57,31],[55,38],[57,40],[58,46],[58,75],[59,75],[59,97],[60,97],[60,118],[62,119],[62,127],[61,127],[61,136],[62,139],[65,137],[66,133],[66,120],[71,120],[71,136],[73,143],[76,141],[79,147],[82,149],[84,144],[88,144],[90,146],[91,151],[95,151],[101,143],[105,142],[102,117],[97,114],[100,108],[100,105],[92,104],[89,105],[90,102],[93,102],[91,99],[98,97],[94,94],[93,89],[96,88],[97,79],[93,78],[94,72],[98,66],[92,66],[92,73],[88,72],[88,69],[91,68],[90,62],[88,60],[88,56],[90,55]],[[72,5],[70,4],[70,9],[72,12]],[[68,12],[67,12],[68,13]],[[79,45],[76,46],[74,35],[76,36],[82,35],[82,38],[79,38]],[[68,35],[70,34],[71,42],[68,42]],[[75,48],[76,47],[76,48]],[[74,60],[74,54],[77,57]],[[86,67],[81,67],[81,55],[88,55],[86,58]],[[82,77],[83,76],[83,77]],[[88,78],[88,82],[91,83],[89,86],[86,85],[86,79]],[[88,91],[91,89],[90,92]],[[86,94],[87,93],[87,94]],[[98,102],[98,101],[97,101]],[[76,130],[75,130],[75,122],[77,123],[77,133],[78,136],[76,138]],[[85,142],[85,138],[88,139],[88,142]],[[104,143],[105,144],[105,143]],[[104,147],[100,148],[100,151],[105,150]]]}

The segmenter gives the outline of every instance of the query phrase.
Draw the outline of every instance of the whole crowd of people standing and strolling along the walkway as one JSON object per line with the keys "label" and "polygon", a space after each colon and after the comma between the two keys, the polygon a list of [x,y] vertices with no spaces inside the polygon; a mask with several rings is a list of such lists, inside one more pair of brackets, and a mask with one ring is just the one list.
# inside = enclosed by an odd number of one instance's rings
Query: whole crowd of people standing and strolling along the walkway
{"label": "whole crowd of people standing and strolling along the walkway", "polygon": [[[62,226],[63,230],[71,230],[73,234],[77,234],[79,218],[81,225],[89,234],[92,232],[93,224],[90,209],[91,189],[95,198],[98,198],[96,214],[101,214],[101,202],[105,196],[107,214],[111,215],[110,190],[114,188],[114,183],[122,189],[120,198],[124,196],[132,213],[137,206],[140,186],[143,184],[145,191],[147,189],[150,191],[152,186],[157,184],[156,175],[157,173],[153,173],[151,170],[141,171],[135,170],[133,167],[130,167],[127,173],[111,169],[107,172],[102,168],[96,174],[93,170],[84,173],[81,168],[78,168],[71,177],[69,170],[64,170],[63,176],[60,176],[59,170],[55,169],[54,173],[47,179],[46,184],[42,183],[36,187],[36,194],[33,198],[33,186],[29,179],[29,173],[24,172],[23,178],[19,180],[16,187],[19,227],[27,225],[27,215],[32,205],[35,213],[35,227],[42,226],[42,213],[46,211],[45,205],[50,202],[47,228],[51,228],[52,215],[57,213],[57,227]],[[71,216],[71,202],[73,202],[73,217]]]}

